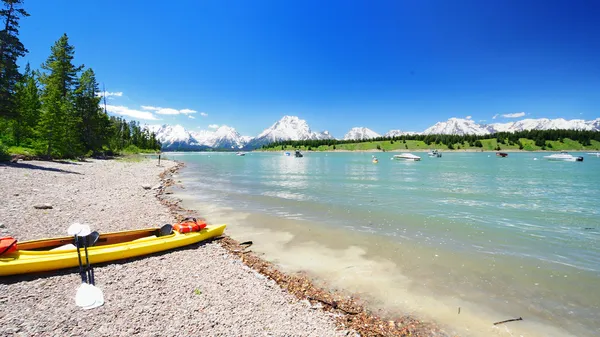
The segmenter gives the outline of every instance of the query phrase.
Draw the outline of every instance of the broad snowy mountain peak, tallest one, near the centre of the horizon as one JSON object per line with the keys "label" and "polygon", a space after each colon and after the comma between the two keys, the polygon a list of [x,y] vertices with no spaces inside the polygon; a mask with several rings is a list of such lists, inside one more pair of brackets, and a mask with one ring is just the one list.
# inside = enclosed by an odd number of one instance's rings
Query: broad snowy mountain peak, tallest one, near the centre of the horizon
{"label": "broad snowy mountain peak, tallest one, near the centre of the horizon", "polygon": [[248,142],[247,147],[257,148],[282,140],[333,139],[328,131],[313,132],[305,120],[296,116],[283,116],[271,127]]}

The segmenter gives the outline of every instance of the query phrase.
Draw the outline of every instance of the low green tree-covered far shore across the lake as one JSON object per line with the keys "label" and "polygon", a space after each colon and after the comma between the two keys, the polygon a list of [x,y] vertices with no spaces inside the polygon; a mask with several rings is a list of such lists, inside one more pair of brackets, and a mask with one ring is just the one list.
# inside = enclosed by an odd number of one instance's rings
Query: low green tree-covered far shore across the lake
{"label": "low green tree-covered far shore across the lake", "polygon": [[493,135],[402,135],[364,140],[288,140],[263,145],[262,150],[600,150],[600,132],[581,130],[526,130]]}

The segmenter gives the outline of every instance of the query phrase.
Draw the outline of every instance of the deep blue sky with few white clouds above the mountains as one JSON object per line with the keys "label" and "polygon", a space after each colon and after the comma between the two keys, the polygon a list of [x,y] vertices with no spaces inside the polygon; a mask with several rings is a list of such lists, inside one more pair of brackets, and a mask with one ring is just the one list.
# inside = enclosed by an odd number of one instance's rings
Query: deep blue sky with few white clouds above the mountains
{"label": "deep blue sky with few white clouds above the mountains", "polygon": [[111,110],[189,129],[227,124],[244,135],[283,115],[336,137],[354,126],[422,131],[450,117],[505,122],[519,112],[593,119],[599,6],[26,0],[21,39],[30,52],[21,63],[39,67],[67,33],[75,61],[122,93],[108,100]]}

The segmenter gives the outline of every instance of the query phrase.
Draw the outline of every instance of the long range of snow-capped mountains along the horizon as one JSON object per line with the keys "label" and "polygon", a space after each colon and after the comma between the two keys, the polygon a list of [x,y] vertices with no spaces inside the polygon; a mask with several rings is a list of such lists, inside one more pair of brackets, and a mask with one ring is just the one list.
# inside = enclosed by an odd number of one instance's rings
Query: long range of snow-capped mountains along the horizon
{"label": "long range of snow-capped mountains along the horizon", "polygon": [[[242,136],[234,128],[222,125],[215,130],[188,131],[181,125],[146,125],[163,144],[163,150],[256,149],[262,145],[284,140],[335,139],[328,131],[315,132],[305,120],[284,116],[256,137]],[[523,119],[509,123],[478,124],[471,119],[450,118],[425,129],[422,134],[489,135],[496,132],[524,130],[576,129],[600,131],[600,118],[585,121],[563,118]],[[419,132],[390,130],[384,137],[421,134]],[[342,139],[364,140],[381,137],[366,127],[354,127]]]}

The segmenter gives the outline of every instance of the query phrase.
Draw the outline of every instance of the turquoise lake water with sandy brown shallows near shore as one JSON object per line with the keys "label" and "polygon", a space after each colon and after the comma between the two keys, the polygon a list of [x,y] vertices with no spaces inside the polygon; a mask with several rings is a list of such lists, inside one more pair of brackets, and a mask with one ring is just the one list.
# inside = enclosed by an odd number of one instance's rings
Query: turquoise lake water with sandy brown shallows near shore
{"label": "turquoise lake water with sandy brown shallows near shore", "polygon": [[373,307],[460,335],[600,335],[600,158],[415,154],[166,155],[186,207]]}

